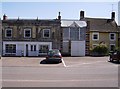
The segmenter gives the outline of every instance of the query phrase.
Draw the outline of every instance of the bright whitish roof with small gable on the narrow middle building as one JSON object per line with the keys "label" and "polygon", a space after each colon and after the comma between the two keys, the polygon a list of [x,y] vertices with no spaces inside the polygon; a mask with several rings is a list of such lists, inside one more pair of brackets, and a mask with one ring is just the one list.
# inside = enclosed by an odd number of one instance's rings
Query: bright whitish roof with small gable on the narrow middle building
{"label": "bright whitish roof with small gable on the narrow middle building", "polygon": [[87,23],[80,20],[61,20],[62,27],[86,27]]}

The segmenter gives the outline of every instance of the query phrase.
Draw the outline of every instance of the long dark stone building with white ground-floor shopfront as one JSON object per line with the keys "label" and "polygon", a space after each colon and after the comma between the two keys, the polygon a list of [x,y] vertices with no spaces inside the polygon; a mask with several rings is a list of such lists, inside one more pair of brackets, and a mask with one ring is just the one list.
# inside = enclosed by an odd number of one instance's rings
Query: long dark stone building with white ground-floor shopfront
{"label": "long dark stone building with white ground-floor shopfront", "polygon": [[3,56],[43,56],[61,49],[61,16],[58,19],[2,20]]}

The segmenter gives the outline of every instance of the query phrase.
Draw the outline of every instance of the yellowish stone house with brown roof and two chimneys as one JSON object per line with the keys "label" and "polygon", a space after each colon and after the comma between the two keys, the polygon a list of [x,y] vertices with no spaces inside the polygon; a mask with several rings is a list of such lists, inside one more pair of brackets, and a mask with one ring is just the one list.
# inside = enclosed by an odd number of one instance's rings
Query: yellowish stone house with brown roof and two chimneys
{"label": "yellowish stone house with brown roof and two chimneys", "polygon": [[87,18],[85,12],[80,11],[80,20],[87,22],[86,30],[86,55],[90,55],[90,50],[95,46],[104,43],[109,50],[118,47],[118,26],[115,22],[115,12],[111,13],[111,18]]}

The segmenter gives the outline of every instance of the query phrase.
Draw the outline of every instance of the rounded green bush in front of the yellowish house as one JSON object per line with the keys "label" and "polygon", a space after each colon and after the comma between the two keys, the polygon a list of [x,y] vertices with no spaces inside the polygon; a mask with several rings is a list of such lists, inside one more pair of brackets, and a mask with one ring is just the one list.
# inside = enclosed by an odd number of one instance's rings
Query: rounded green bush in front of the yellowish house
{"label": "rounded green bush in front of the yellowish house", "polygon": [[104,44],[100,44],[91,50],[92,56],[105,56],[108,55],[108,47]]}

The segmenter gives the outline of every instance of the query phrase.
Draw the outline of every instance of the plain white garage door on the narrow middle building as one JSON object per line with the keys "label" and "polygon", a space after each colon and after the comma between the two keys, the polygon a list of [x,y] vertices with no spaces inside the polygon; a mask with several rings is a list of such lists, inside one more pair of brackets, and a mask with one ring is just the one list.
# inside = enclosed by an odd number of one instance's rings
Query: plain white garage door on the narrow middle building
{"label": "plain white garage door on the narrow middle building", "polygon": [[85,41],[71,41],[71,56],[85,56]]}

